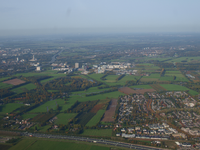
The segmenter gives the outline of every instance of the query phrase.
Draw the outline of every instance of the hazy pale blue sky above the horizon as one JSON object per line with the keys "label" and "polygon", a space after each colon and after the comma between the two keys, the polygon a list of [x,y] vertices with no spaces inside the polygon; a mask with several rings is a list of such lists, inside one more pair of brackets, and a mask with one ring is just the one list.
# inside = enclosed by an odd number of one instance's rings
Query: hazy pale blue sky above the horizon
{"label": "hazy pale blue sky above the horizon", "polygon": [[0,0],[0,34],[200,32],[200,0]]}

